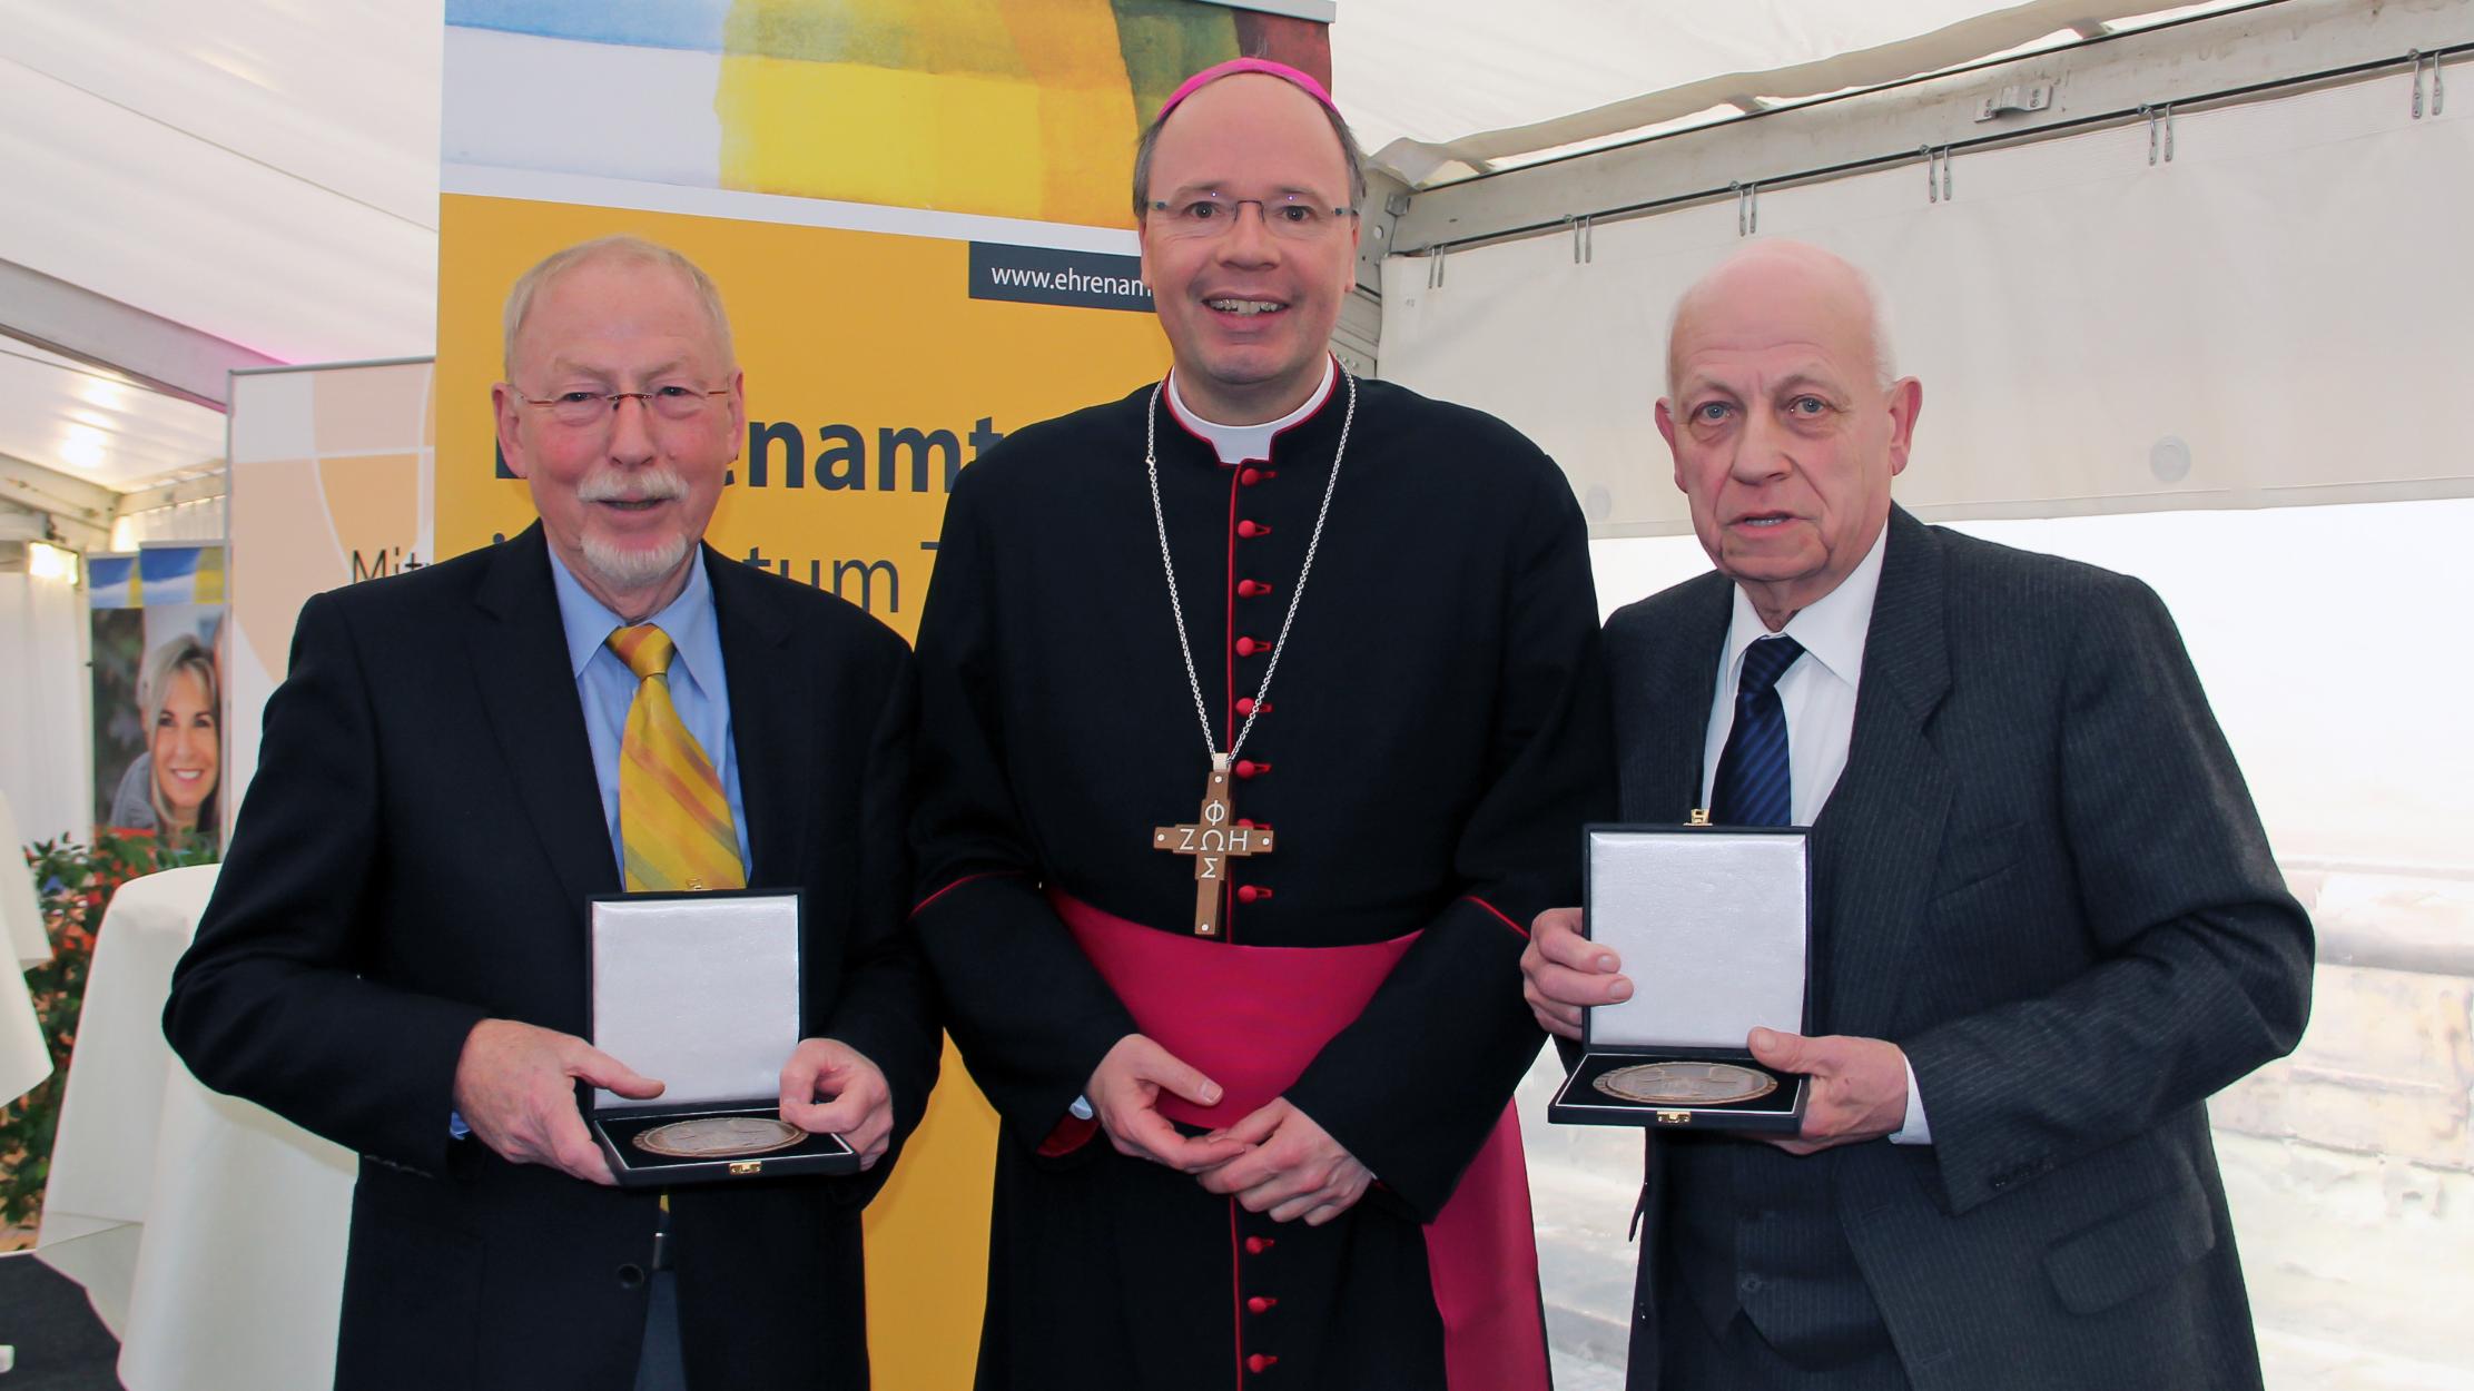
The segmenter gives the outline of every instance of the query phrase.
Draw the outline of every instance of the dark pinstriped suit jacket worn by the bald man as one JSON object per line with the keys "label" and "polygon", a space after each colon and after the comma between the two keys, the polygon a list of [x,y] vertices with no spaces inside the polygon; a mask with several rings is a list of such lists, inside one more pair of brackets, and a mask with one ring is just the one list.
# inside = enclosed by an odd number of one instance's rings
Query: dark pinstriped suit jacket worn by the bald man
{"label": "dark pinstriped suit jacket worn by the bald man", "polygon": [[[1732,584],[1608,626],[1623,817],[1700,804]],[[1813,827],[1813,1032],[1900,1044],[1932,1146],[1813,1156],[1920,1391],[2256,1386],[2202,1101],[2286,1054],[2311,923],[2140,582],[1890,517],[1846,772]],[[1658,1369],[1650,1143],[1633,1386]],[[1752,1141],[1722,1141],[1752,1143]]]}

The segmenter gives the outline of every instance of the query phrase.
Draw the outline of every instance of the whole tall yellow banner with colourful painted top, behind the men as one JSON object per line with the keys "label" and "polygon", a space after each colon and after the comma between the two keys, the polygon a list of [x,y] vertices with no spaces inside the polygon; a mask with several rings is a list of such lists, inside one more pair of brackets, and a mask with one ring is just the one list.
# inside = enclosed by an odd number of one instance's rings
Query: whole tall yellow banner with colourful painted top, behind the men
{"label": "whole tall yellow banner with colourful painted top, behind the men", "polygon": [[[507,287],[633,233],[715,277],[747,371],[708,540],[913,636],[952,475],[1168,369],[1133,144],[1239,52],[1329,72],[1321,25],[1195,0],[450,0],[438,554],[532,522],[490,418]],[[995,1129],[948,1047],[866,1218],[878,1386],[972,1381]]]}

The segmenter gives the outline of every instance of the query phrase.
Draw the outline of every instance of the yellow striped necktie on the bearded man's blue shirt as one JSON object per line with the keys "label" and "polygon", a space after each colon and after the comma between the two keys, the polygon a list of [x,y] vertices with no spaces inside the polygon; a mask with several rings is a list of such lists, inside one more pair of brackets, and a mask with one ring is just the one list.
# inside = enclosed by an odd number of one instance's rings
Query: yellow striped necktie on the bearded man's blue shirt
{"label": "yellow striped necktie on the bearded man's blue shirt", "polygon": [[618,740],[618,844],[626,891],[745,889],[740,829],[703,745],[670,703],[678,646],[653,624],[616,629],[609,646],[636,673]]}

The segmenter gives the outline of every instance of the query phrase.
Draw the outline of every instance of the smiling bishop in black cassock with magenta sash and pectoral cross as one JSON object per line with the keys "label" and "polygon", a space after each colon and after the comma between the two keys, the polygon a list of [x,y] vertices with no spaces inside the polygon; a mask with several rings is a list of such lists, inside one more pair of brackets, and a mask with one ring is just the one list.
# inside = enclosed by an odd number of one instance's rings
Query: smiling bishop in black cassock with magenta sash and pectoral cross
{"label": "smiling bishop in black cassock with magenta sash and pectoral cross", "polygon": [[982,1391],[1546,1386],[1507,1101],[1611,802],[1588,557],[1536,446],[1333,361],[1363,198],[1314,77],[1188,79],[1133,161],[1175,371],[945,512],[915,918],[1004,1116]]}

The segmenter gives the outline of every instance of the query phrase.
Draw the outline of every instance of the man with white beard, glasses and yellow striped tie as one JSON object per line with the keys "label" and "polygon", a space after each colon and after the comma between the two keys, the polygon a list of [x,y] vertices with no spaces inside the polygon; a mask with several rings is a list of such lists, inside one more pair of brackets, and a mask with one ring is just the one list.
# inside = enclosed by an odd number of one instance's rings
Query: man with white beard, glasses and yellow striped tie
{"label": "man with white beard, glasses and yellow striped tie", "polygon": [[[497,443],[542,520],[319,594],[166,1035],[361,1153],[336,1386],[856,1389],[858,1210],[935,1084],[903,931],[903,641],[700,547],[745,438],[713,282],[604,238],[507,297]],[[782,1119],[851,1178],[621,1191],[576,1087],[586,903],[802,891]]]}

